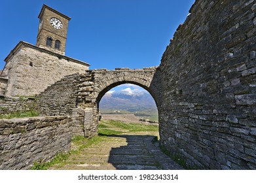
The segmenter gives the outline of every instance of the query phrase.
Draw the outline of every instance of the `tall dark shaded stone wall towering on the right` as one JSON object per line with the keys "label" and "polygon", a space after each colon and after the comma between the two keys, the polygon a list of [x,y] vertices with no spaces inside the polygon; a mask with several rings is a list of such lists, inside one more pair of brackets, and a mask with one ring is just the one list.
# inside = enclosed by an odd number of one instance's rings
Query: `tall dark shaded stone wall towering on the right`
{"label": "tall dark shaded stone wall towering on the right", "polygon": [[161,145],[199,169],[256,169],[256,2],[197,0],[160,64]]}

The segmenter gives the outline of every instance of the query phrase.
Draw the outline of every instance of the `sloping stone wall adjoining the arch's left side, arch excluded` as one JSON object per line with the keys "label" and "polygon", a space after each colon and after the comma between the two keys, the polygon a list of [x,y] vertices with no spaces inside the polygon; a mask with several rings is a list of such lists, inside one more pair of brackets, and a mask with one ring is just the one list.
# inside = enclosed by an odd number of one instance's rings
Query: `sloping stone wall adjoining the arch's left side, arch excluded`
{"label": "sloping stone wall adjoining the arch's left side, arch excluded", "polygon": [[41,116],[72,116],[73,135],[84,135],[84,110],[77,108],[81,76],[65,76],[37,95],[35,108]]}

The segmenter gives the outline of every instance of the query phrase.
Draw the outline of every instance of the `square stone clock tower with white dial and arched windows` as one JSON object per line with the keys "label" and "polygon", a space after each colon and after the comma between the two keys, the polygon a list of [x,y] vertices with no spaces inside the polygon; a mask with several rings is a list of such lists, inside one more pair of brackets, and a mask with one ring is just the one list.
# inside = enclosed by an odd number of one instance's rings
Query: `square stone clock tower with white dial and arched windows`
{"label": "square stone clock tower with white dial and arched windows", "polygon": [[65,43],[67,41],[68,16],[43,5],[39,18],[37,33],[37,46],[65,55]]}

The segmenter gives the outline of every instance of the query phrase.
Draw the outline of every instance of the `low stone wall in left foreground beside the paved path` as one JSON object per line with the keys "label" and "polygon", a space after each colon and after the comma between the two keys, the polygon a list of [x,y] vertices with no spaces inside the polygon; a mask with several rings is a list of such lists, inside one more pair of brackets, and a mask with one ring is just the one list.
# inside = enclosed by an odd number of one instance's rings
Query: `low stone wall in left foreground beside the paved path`
{"label": "low stone wall in left foreground beside the paved path", "polygon": [[0,120],[0,169],[30,169],[71,148],[69,116]]}

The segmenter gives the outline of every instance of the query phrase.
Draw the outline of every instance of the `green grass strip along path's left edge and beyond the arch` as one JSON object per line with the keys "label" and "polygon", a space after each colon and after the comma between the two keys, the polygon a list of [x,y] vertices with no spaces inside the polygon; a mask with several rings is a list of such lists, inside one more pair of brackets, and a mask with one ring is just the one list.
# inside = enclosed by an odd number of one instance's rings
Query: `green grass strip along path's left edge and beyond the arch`
{"label": "green grass strip along path's left edge and beyond the arch", "polygon": [[84,148],[94,146],[100,142],[107,141],[109,135],[120,135],[122,133],[134,133],[138,131],[158,131],[157,125],[145,125],[135,123],[124,123],[110,121],[101,121],[99,124],[99,135],[92,138],[83,137],[80,135],[72,137],[71,151],[67,154],[58,153],[49,162],[42,162],[41,159],[34,163],[33,170],[45,170],[52,166],[63,167],[69,159],[69,156],[73,154],[81,154]]}

